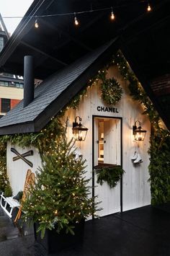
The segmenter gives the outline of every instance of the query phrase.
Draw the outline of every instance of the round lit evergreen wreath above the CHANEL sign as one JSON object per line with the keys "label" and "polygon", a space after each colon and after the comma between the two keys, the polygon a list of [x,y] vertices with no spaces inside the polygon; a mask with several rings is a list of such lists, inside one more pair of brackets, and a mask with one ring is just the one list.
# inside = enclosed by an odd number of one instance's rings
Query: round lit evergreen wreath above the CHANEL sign
{"label": "round lit evergreen wreath above the CHANEL sign", "polygon": [[122,97],[122,88],[115,78],[104,79],[101,84],[102,100],[108,105],[115,105]]}

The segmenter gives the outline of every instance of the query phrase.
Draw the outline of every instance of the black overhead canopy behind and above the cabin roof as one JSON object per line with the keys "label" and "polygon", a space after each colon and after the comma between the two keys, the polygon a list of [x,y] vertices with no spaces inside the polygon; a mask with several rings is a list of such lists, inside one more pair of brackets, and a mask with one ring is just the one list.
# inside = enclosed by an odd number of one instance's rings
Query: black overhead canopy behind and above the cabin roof
{"label": "black overhead canopy behind and above the cabin roof", "polygon": [[[24,56],[32,55],[35,78],[45,79],[118,36],[122,53],[170,128],[167,84],[161,94],[155,94],[152,87],[158,77],[170,74],[170,1],[151,0],[151,13],[146,13],[147,4],[148,1],[140,0],[35,0],[0,54],[0,72],[23,75]],[[109,21],[107,10],[78,16],[79,28],[73,26],[73,15],[40,17],[39,29],[34,27],[38,15],[109,6],[115,7],[115,22]]]}

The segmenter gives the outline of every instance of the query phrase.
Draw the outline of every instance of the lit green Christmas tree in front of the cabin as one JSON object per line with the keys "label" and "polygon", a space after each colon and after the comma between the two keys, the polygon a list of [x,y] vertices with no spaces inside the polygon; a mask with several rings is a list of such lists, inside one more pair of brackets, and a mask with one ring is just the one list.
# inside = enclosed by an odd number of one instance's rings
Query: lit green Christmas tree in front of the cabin
{"label": "lit green Christmas tree in front of the cabin", "polygon": [[97,211],[89,197],[84,162],[76,159],[73,141],[67,142],[65,136],[56,138],[42,156],[37,182],[23,206],[24,219],[38,222],[42,237],[46,229],[73,234],[74,224]]}

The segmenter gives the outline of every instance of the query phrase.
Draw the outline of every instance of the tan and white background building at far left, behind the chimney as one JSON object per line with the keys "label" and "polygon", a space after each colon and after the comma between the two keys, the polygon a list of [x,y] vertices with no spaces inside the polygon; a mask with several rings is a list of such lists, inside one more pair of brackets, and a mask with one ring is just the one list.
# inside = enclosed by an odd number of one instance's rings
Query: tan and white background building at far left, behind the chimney
{"label": "tan and white background building at far left, behind the chimney", "polygon": [[[1,14],[0,14],[1,18]],[[2,29],[3,27],[3,29]],[[0,52],[4,48],[9,34],[0,19]],[[0,73],[0,118],[11,110],[23,98],[23,77],[13,74]]]}

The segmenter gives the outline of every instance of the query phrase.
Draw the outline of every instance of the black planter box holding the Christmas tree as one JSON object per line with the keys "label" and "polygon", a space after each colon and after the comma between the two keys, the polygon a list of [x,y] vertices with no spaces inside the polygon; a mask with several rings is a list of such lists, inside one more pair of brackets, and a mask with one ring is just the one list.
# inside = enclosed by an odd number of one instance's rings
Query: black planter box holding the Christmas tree
{"label": "black planter box holding the Christmas tree", "polygon": [[73,229],[73,234],[66,234],[65,230],[61,230],[58,234],[55,229],[46,230],[45,237],[41,239],[40,232],[36,232],[38,224],[35,224],[35,240],[40,243],[48,253],[60,252],[63,249],[68,249],[75,247],[83,242],[84,239],[84,222],[81,221],[79,224],[73,224],[75,228]]}

